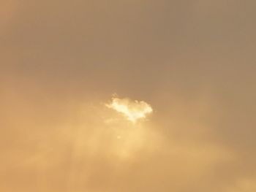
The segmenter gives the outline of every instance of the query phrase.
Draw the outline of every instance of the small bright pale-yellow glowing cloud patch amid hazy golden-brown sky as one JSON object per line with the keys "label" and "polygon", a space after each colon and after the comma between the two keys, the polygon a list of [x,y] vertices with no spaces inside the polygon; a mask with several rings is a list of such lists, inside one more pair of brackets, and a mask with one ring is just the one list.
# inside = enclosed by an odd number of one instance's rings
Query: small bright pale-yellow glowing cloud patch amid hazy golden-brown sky
{"label": "small bright pale-yellow glowing cloud patch amid hazy golden-brown sky", "polygon": [[110,104],[106,104],[106,106],[121,113],[132,123],[136,123],[139,119],[145,119],[146,115],[153,112],[150,104],[145,101],[132,101],[131,99],[118,99],[116,97],[113,97]]}

